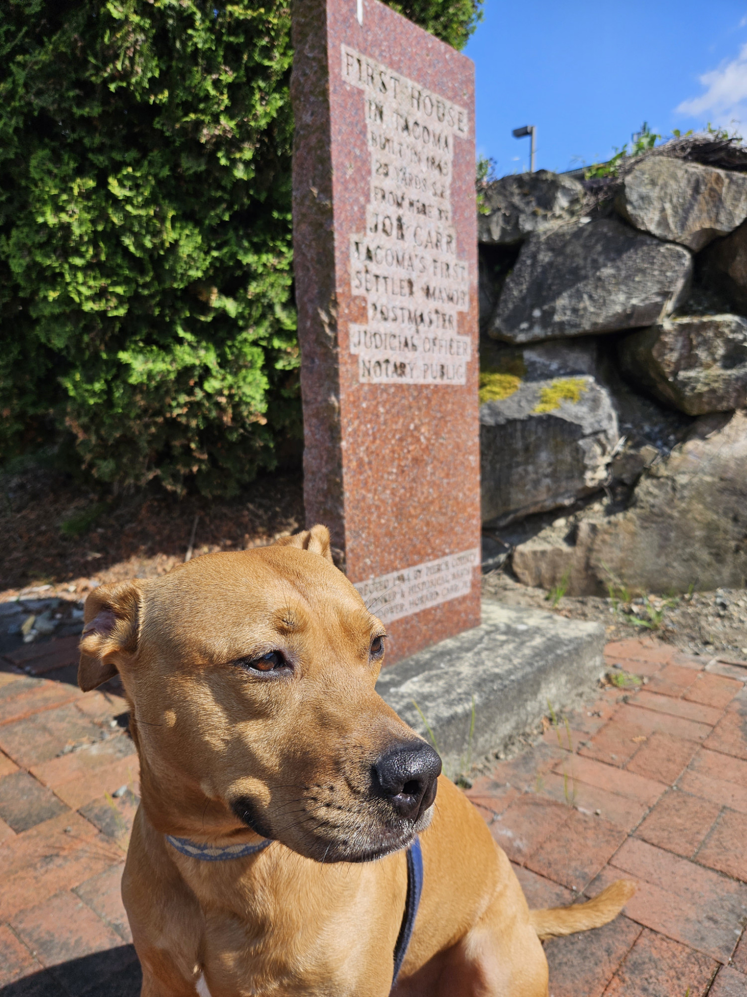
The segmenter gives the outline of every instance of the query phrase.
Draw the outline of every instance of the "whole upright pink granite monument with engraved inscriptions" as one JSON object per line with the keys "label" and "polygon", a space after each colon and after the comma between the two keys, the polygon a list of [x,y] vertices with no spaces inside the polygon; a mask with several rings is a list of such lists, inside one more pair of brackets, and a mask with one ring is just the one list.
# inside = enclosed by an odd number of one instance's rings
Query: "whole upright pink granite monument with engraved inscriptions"
{"label": "whole upright pink granite monument with engraved inscriptions", "polygon": [[307,523],[390,633],[480,623],[474,72],[379,0],[295,0]]}

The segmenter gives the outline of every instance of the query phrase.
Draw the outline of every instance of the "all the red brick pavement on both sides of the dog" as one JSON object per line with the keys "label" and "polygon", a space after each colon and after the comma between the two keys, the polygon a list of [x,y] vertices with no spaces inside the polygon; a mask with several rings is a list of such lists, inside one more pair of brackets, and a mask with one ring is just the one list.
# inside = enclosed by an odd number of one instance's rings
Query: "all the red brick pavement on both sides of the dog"
{"label": "all the red brick pavement on both sides of the dog", "polygon": [[[531,905],[638,882],[612,924],[546,943],[554,997],[747,997],[747,664],[652,639],[606,657],[618,684],[468,795]],[[75,659],[63,638],[0,662],[2,997],[139,993],[137,757],[116,684],[81,693]]]}

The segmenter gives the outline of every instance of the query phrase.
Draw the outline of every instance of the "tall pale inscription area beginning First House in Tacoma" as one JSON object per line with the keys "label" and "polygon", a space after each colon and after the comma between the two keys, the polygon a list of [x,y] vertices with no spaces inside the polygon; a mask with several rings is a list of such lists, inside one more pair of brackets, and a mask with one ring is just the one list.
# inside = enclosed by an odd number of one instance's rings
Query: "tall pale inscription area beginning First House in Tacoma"
{"label": "tall pale inscription area beginning First House in Tacoma", "polygon": [[468,264],[457,256],[454,144],[469,115],[439,94],[342,46],[342,78],[363,91],[371,155],[366,230],[350,238],[353,295],[368,321],[350,324],[358,378],[371,384],[465,384]]}

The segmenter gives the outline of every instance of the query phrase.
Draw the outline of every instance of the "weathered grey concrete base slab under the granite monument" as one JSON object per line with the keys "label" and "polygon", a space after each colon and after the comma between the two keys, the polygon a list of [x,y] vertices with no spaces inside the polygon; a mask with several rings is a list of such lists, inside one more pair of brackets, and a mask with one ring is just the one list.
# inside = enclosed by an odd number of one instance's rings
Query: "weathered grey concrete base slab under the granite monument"
{"label": "weathered grey concrete base slab under the granite monument", "polygon": [[603,649],[600,623],[484,599],[479,627],[385,668],[376,690],[419,734],[430,727],[454,777],[535,726],[548,702],[559,710],[591,692]]}

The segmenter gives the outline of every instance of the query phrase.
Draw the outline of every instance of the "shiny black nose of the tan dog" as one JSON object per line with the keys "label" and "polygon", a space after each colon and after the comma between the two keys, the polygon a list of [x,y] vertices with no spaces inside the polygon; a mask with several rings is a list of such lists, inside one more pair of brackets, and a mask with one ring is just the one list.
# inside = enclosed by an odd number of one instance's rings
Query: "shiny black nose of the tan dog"
{"label": "shiny black nose of the tan dog", "polygon": [[425,741],[411,741],[390,749],[373,769],[379,795],[389,801],[400,817],[417,821],[436,799],[441,759]]}

